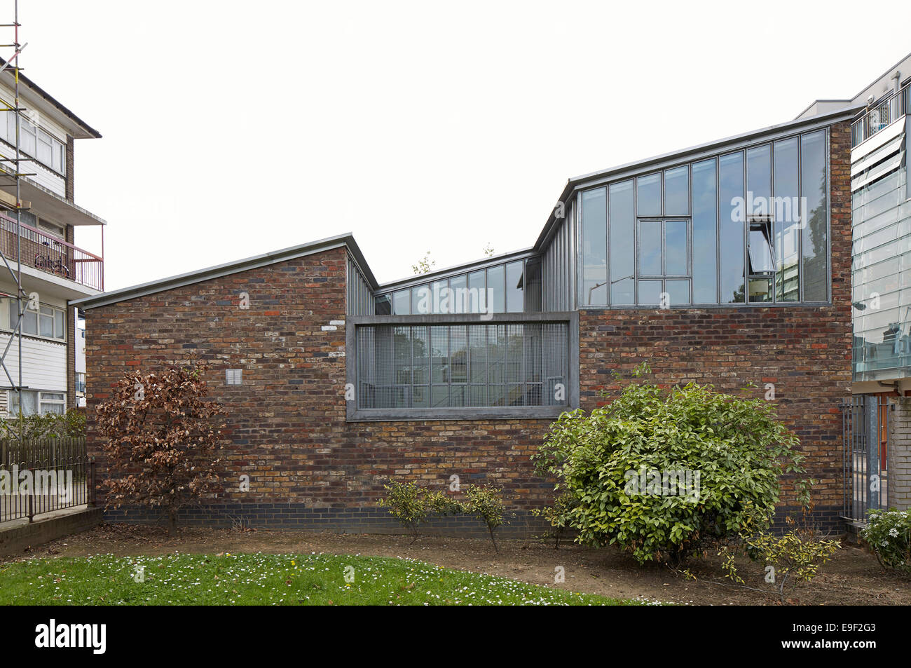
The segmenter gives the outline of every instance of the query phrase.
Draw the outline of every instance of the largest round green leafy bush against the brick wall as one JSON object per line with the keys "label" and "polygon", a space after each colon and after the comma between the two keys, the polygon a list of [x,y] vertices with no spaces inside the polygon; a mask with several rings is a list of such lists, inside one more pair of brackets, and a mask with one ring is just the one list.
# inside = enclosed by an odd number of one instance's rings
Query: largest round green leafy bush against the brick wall
{"label": "largest round green leafy bush against the brick wall", "polygon": [[634,383],[608,406],[564,413],[533,458],[572,498],[578,542],[679,563],[769,525],[779,478],[803,472],[797,443],[762,400]]}

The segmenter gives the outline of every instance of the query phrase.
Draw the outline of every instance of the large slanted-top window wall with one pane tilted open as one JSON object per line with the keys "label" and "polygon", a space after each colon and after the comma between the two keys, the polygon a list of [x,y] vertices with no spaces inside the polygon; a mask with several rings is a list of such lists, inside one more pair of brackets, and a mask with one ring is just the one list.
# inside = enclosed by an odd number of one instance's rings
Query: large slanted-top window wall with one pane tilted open
{"label": "large slanted-top window wall with one pane tilted open", "polygon": [[582,191],[579,304],[828,302],[827,155],[814,130]]}

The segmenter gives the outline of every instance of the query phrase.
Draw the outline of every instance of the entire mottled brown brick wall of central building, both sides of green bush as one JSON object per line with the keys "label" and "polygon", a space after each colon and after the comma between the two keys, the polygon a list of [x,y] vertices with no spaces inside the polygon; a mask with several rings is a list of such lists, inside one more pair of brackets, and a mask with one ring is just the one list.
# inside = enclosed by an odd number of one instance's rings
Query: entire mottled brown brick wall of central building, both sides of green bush
{"label": "entire mottled brown brick wall of central building, both sides of green bush", "polygon": [[[833,305],[671,311],[594,311],[579,317],[580,401],[616,392],[611,372],[648,361],[662,383],[690,380],[741,391],[775,385],[783,419],[801,438],[807,467],[821,484],[818,517],[836,528],[842,505],[838,403],[851,385],[851,221],[848,126],[832,130]],[[517,512],[512,532],[529,530],[528,510],[551,486],[532,476],[529,455],[548,420],[345,422],[344,327],[323,331],[345,313],[343,249],[88,311],[89,448],[99,456],[94,408],[131,370],[200,359],[211,365],[211,394],[230,412],[219,498],[185,519],[336,530],[389,530],[375,507],[383,483],[408,478],[443,489],[502,486]],[[241,309],[241,293],[250,308]],[[243,369],[243,385],[224,383]],[[251,490],[241,492],[241,475]],[[784,499],[784,503],[788,498]],[[783,511],[786,507],[783,507]],[[147,520],[141,513],[109,513]],[[446,519],[479,529],[474,520]]]}

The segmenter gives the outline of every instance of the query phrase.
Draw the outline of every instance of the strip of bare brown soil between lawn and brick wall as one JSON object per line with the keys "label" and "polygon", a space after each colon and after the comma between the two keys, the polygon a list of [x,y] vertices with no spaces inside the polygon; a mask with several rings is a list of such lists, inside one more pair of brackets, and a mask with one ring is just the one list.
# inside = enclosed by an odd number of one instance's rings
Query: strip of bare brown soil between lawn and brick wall
{"label": "strip of bare brown soil between lawn and brick wall", "polygon": [[[169,538],[163,527],[106,524],[85,533],[55,540],[26,551],[21,557],[85,557],[159,555],[168,552],[269,552],[360,554],[407,557],[446,568],[488,573],[498,577],[604,594],[690,605],[779,605],[776,595],[733,586],[724,580],[720,560],[713,554],[689,564],[696,581],[657,565],[640,566],[612,548],[592,549],[537,540],[502,540],[496,552],[489,540],[438,536],[419,538],[375,534],[334,534],[252,529],[180,529]],[[838,550],[814,581],[801,583],[787,594],[786,603],[802,605],[911,605],[911,578],[883,570],[875,556],[853,545]],[[739,562],[747,584],[763,583],[763,567]],[[555,584],[558,567],[566,581]]]}

